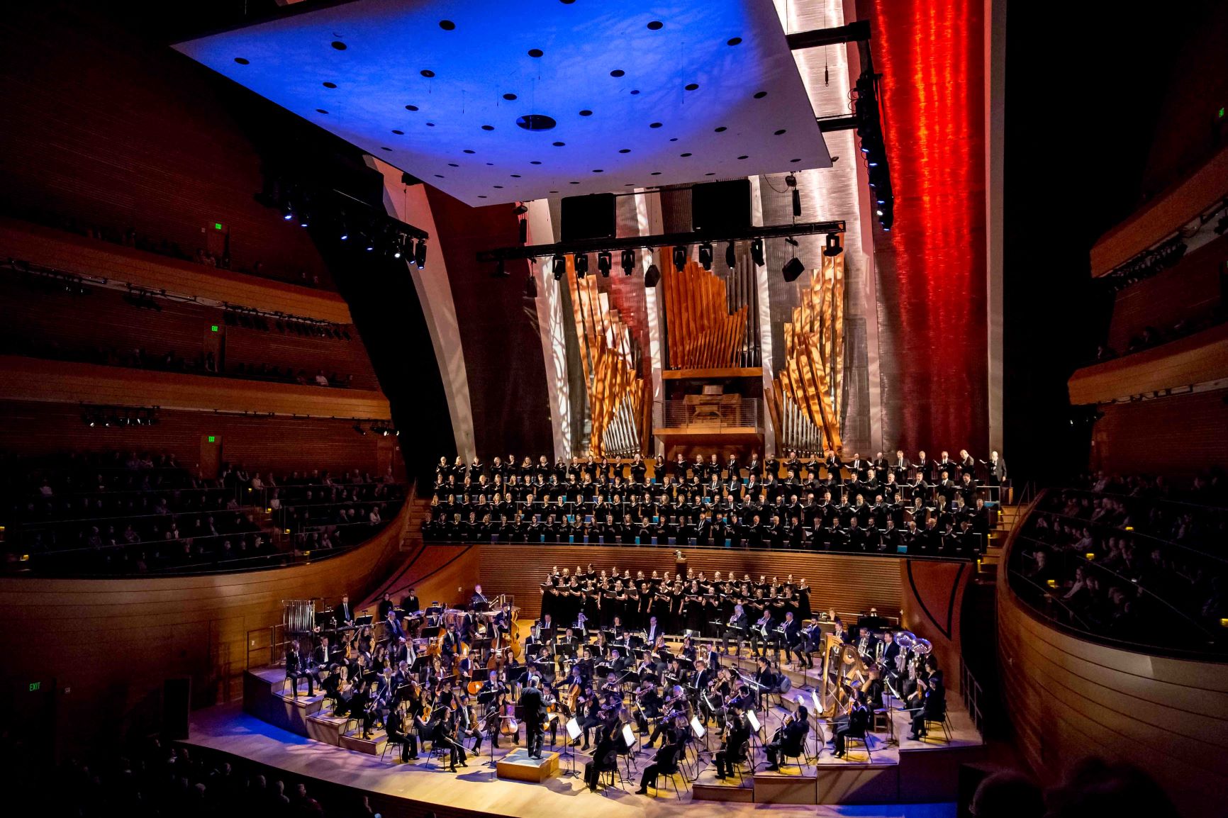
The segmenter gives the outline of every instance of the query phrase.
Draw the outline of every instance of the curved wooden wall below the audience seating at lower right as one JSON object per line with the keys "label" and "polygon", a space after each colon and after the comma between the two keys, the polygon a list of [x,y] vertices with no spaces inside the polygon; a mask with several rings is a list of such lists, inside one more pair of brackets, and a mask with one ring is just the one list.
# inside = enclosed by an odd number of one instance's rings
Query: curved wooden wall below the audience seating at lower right
{"label": "curved wooden wall below the audience seating at lower right", "polygon": [[[1008,555],[1007,555],[1008,558]],[[1162,658],[1055,630],[998,569],[1002,698],[1023,757],[1046,784],[1087,755],[1147,770],[1187,816],[1228,792],[1228,664]]]}

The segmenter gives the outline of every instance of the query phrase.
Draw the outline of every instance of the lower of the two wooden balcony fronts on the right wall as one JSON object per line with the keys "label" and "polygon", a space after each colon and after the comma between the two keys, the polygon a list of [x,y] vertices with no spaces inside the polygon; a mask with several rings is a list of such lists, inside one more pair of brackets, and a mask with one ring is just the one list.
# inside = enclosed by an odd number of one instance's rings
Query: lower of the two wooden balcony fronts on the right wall
{"label": "lower of the two wooden balcony fronts on the right wall", "polygon": [[1088,404],[1223,378],[1228,378],[1228,324],[1084,366],[1071,376],[1067,388],[1072,404]]}

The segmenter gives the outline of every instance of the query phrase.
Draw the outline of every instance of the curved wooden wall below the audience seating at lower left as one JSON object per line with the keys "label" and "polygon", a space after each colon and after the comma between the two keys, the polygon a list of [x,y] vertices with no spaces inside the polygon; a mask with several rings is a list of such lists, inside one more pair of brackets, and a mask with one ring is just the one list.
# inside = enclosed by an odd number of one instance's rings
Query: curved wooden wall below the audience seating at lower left
{"label": "curved wooden wall below the audience seating at lower left", "polygon": [[[248,634],[281,621],[282,599],[361,598],[395,561],[411,504],[348,554],[266,571],[150,580],[0,578],[6,704],[56,690],[61,747],[157,723],[163,679],[192,678],[192,704],[238,698]],[[255,646],[268,645],[264,634]],[[268,660],[268,649],[258,653]],[[253,655],[257,663],[257,655]]]}

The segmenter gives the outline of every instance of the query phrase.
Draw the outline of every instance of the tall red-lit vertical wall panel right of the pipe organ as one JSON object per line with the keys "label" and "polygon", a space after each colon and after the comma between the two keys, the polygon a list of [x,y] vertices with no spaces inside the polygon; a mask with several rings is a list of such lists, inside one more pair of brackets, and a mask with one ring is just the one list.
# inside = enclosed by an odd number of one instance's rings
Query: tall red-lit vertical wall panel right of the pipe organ
{"label": "tall red-lit vertical wall panel right of the pipe organ", "polygon": [[895,225],[876,227],[884,445],[987,445],[982,0],[861,0]]}

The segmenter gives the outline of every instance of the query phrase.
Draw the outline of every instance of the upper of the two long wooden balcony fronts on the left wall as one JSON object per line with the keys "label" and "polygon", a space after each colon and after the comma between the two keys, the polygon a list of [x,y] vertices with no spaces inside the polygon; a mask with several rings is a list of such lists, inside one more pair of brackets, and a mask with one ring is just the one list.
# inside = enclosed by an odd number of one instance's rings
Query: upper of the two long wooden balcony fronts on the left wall
{"label": "upper of the two long wooden balcony fronts on the left wall", "polygon": [[[273,211],[270,214],[276,217]],[[0,219],[0,255],[66,273],[125,281],[149,290],[166,290],[336,324],[352,323],[349,307],[335,292],[181,262],[12,219]]]}

